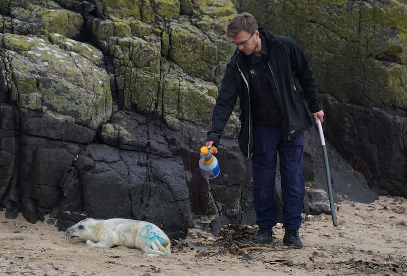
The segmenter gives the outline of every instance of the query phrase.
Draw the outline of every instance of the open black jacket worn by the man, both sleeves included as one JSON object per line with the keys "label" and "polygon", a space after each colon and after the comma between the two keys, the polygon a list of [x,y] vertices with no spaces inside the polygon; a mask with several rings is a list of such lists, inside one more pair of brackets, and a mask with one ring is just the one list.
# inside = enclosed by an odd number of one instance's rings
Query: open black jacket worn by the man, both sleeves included
{"label": "open black jacket worn by the man, both sleeves included", "polygon": [[[288,37],[272,36],[264,28],[258,30],[266,38],[268,67],[272,76],[271,81],[274,81],[277,87],[276,97],[283,117],[284,139],[289,140],[313,125],[313,120],[295,87],[295,78],[304,90],[304,98],[311,113],[322,110],[318,85],[308,59],[294,41]],[[219,145],[223,129],[239,97],[241,124],[239,146],[248,159],[253,148],[253,134],[248,72],[244,59],[244,53],[237,49],[226,66],[212,115],[212,130],[208,132],[207,141],[214,141]]]}

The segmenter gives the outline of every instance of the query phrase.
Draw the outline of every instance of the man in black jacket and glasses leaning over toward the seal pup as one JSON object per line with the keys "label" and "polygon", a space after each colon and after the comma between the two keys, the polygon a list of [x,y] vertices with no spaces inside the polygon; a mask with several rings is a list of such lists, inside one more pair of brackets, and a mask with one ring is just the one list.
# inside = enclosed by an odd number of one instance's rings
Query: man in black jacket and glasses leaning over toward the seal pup
{"label": "man in black jacket and glasses leaning over toward the seal pup", "polygon": [[226,66],[212,115],[206,146],[219,145],[223,129],[239,97],[239,146],[252,162],[253,206],[259,229],[253,237],[270,243],[277,223],[274,200],[277,153],[283,199],[283,244],[302,248],[301,226],[305,195],[304,133],[313,121],[295,87],[298,79],[315,122],[324,121],[315,76],[303,51],[291,39],[258,28],[249,13],[236,15],[226,35],[238,49]]}

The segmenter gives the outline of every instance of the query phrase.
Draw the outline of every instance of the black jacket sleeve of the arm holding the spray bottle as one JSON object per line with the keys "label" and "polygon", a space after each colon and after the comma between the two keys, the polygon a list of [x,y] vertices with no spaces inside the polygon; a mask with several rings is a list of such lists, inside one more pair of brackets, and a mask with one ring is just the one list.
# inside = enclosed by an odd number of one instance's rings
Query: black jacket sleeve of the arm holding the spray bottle
{"label": "black jacket sleeve of the arm holding the spray bottle", "polygon": [[212,130],[207,134],[207,141],[214,141],[216,146],[222,137],[230,114],[235,108],[238,99],[237,81],[232,72],[231,62],[227,64],[222,84],[212,113]]}

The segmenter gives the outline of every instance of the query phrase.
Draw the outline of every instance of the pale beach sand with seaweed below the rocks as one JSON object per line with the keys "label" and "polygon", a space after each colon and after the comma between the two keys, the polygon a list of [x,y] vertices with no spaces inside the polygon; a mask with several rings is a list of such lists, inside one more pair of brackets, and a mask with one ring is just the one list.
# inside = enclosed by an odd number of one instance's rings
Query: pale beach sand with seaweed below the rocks
{"label": "pale beach sand with seaweed below the rocks", "polygon": [[331,216],[305,216],[303,249],[283,246],[281,225],[260,248],[250,248],[256,226],[224,226],[223,237],[191,229],[172,240],[171,256],[155,258],[125,247],[86,248],[47,220],[31,224],[0,211],[0,275],[407,275],[407,199],[335,207],[337,227]]}

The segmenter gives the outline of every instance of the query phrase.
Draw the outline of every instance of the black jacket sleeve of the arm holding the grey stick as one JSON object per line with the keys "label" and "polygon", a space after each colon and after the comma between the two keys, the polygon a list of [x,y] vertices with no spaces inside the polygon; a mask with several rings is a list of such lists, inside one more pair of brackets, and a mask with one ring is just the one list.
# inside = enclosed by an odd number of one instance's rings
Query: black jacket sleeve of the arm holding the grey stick
{"label": "black jacket sleeve of the arm holding the grey stick", "polygon": [[321,95],[318,92],[316,77],[312,72],[308,59],[301,48],[292,40],[290,42],[290,61],[295,77],[304,89],[304,98],[308,102],[308,109],[311,113],[322,110]]}

